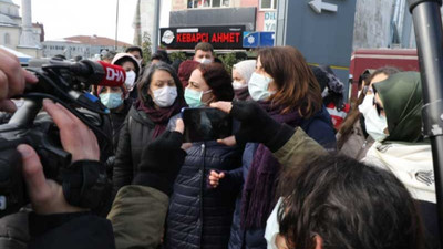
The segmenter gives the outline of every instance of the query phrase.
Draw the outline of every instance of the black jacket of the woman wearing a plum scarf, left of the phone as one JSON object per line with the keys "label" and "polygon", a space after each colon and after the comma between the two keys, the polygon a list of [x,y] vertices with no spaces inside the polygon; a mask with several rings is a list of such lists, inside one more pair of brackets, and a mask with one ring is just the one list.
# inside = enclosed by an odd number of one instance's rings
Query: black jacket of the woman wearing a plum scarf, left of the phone
{"label": "black jacket of the woman wearing a plum scarf, left of the phone", "polygon": [[115,152],[113,190],[130,185],[138,170],[143,147],[153,141],[155,124],[143,111],[132,106],[120,131],[119,147]]}

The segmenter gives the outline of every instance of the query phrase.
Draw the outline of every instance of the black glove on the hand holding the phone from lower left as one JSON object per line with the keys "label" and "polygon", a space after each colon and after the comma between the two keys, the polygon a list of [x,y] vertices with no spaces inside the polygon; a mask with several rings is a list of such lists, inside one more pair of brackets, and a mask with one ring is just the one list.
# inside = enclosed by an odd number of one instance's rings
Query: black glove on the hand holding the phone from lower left
{"label": "black glove on the hand holding the phone from lower left", "polygon": [[181,148],[183,135],[165,132],[143,148],[142,160],[134,177],[134,185],[143,185],[171,195],[173,185],[186,153]]}

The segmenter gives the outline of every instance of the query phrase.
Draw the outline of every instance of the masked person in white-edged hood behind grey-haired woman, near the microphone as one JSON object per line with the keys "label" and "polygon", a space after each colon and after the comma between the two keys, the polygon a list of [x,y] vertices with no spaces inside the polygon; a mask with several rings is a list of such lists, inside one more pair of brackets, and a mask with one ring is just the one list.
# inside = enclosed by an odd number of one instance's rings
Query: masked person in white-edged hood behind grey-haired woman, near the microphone
{"label": "masked person in white-edged hood behind grey-haired woman, near the microphone", "polygon": [[112,64],[120,65],[126,71],[125,85],[128,91],[128,97],[136,100],[138,97],[136,82],[140,74],[140,64],[136,58],[130,53],[117,53],[112,60]]}

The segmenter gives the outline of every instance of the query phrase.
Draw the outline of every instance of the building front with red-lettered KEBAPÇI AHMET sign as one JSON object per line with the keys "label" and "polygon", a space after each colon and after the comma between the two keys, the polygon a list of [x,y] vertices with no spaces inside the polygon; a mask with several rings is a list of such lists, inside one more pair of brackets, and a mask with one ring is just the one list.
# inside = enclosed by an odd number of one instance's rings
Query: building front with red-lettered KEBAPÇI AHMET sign
{"label": "building front with red-lettered KEBAP\u00c7I AHMET sign", "polygon": [[159,21],[157,44],[193,50],[198,42],[210,42],[225,51],[274,45],[277,4],[278,0],[162,1],[161,13],[165,7],[169,13],[168,22]]}

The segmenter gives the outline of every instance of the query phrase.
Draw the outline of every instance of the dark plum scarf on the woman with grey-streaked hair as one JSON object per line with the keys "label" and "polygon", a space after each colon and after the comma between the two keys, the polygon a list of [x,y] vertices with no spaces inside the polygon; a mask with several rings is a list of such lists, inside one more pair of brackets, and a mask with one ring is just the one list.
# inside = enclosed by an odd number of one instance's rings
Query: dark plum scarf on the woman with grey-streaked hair
{"label": "dark plum scarf on the woman with grey-streaked hair", "polygon": [[177,97],[177,100],[175,100],[172,106],[164,108],[155,108],[154,105],[148,105],[145,104],[143,101],[137,100],[135,102],[135,107],[137,108],[137,111],[146,113],[146,115],[155,124],[153,138],[156,138],[157,136],[163,134],[163,132],[165,132],[169,118],[175,114],[179,113],[181,110],[185,107],[185,104]]}

